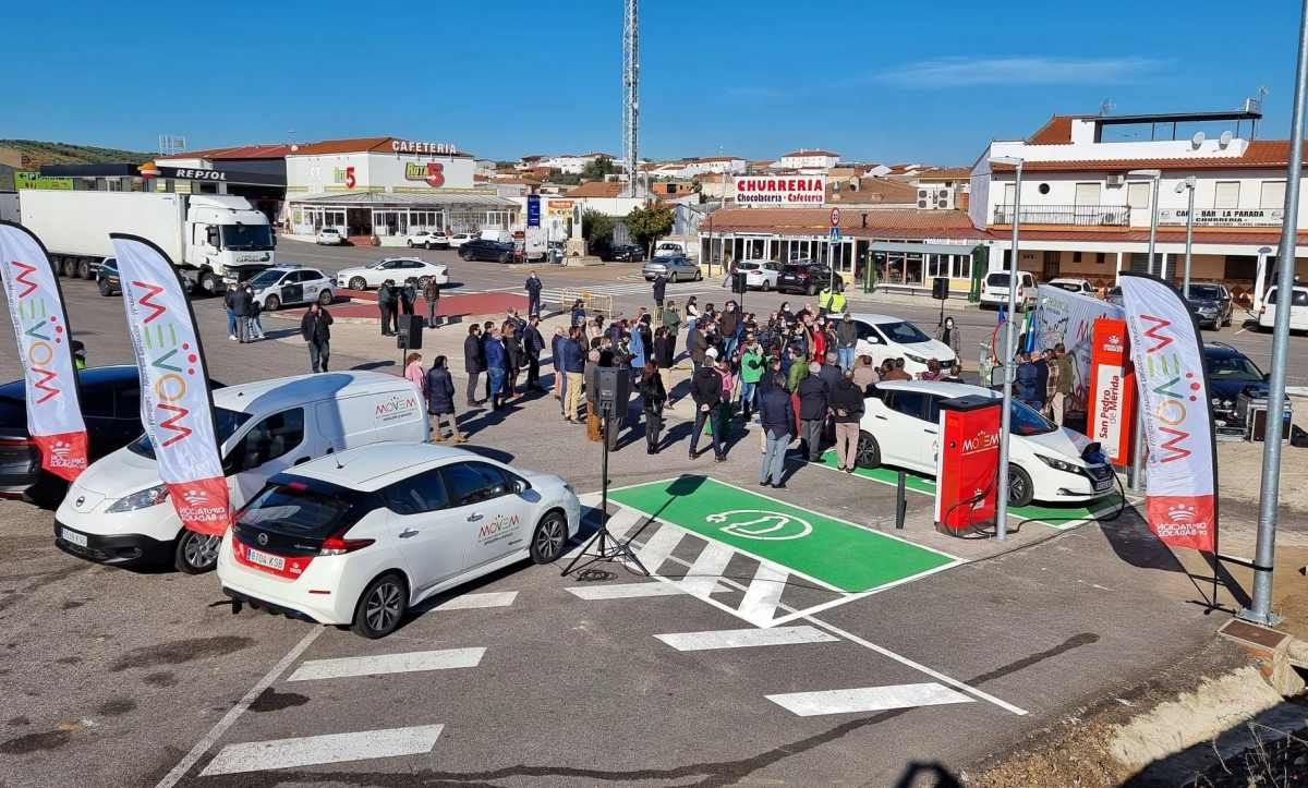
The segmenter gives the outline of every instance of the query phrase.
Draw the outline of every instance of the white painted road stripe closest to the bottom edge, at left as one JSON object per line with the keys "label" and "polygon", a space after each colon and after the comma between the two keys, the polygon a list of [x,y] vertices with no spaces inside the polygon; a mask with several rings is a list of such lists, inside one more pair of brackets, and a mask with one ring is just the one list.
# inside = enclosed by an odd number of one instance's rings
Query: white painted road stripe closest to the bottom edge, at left
{"label": "white painted road stripe closest to the bottom edge, at left", "polygon": [[442,728],[445,726],[417,725],[228,745],[213,757],[200,776],[417,755],[432,751]]}

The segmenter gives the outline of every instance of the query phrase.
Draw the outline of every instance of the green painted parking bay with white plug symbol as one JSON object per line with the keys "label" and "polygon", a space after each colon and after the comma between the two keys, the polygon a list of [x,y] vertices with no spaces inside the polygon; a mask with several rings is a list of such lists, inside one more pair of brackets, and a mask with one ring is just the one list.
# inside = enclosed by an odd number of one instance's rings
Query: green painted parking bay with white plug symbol
{"label": "green painted parking bay with white plug symbol", "polygon": [[706,476],[623,487],[608,497],[846,593],[956,563],[951,555]]}

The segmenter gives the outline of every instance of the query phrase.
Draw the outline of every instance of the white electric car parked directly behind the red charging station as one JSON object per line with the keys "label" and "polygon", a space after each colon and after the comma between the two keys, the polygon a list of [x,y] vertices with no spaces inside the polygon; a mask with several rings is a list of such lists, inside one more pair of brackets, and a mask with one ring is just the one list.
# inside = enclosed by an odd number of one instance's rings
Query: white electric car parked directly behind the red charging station
{"label": "white electric car parked directly behind the red charging station", "polygon": [[[999,398],[981,386],[934,381],[888,381],[867,397],[859,423],[861,467],[891,465],[935,474],[940,450],[940,401],[974,394]],[[1008,505],[1084,503],[1114,490],[1113,469],[1088,437],[1057,427],[1020,402],[1012,403],[1008,441]]]}

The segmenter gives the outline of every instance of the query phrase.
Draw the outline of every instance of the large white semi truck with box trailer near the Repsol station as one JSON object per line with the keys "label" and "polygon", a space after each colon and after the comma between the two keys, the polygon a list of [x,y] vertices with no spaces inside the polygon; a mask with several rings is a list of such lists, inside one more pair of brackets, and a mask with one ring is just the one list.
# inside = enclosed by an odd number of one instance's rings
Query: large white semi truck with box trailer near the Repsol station
{"label": "large white semi truck with box trailer near the Repsol station", "polygon": [[114,255],[110,233],[156,243],[192,292],[222,292],[275,263],[268,217],[242,196],[24,188],[18,202],[24,226],[64,276],[94,279],[101,260]]}

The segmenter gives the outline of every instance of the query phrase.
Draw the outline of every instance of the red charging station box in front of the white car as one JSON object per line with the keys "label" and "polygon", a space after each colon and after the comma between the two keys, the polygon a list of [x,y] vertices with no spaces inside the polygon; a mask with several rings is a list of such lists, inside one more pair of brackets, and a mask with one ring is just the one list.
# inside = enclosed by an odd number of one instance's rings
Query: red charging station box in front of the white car
{"label": "red charging station box in front of the white car", "polygon": [[961,537],[994,525],[1002,406],[976,394],[940,401],[935,530]]}

